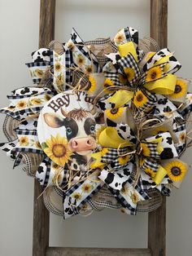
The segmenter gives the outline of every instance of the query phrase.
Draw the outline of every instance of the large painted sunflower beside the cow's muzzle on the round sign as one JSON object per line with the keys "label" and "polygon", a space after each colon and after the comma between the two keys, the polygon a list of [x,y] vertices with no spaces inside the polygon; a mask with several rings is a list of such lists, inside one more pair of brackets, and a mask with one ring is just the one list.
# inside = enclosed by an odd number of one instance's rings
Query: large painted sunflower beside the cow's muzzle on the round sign
{"label": "large painted sunflower beside the cow's muzzle on the round sign", "polygon": [[68,140],[59,134],[56,138],[51,135],[51,138],[46,140],[46,146],[44,148],[46,155],[59,166],[65,166],[72,155],[68,149]]}

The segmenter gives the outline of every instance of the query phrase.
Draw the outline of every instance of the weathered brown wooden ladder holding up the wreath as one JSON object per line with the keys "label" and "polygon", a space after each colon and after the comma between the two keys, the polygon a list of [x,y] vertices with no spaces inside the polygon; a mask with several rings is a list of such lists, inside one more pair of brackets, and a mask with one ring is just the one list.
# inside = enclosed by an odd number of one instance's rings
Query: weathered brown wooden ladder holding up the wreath
{"label": "weathered brown wooden ladder holding up the wreath", "polygon": [[[151,38],[160,48],[168,41],[168,0],[151,0]],[[40,1],[39,47],[48,46],[55,37],[55,0]],[[159,209],[148,214],[148,248],[103,249],[103,248],[58,248],[49,246],[50,215],[42,201],[42,188],[34,183],[33,210],[33,256],[165,256],[166,200]]]}

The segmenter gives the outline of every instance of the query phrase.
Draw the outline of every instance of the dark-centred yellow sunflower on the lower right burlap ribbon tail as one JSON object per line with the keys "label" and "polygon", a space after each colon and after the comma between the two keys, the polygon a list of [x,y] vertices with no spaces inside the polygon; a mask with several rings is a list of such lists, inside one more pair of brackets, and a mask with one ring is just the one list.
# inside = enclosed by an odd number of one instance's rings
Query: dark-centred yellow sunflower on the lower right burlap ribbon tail
{"label": "dark-centred yellow sunflower on the lower right burlap ribbon tail", "polygon": [[168,172],[168,177],[172,179],[173,182],[180,182],[187,171],[185,163],[181,161],[170,161],[164,169]]}

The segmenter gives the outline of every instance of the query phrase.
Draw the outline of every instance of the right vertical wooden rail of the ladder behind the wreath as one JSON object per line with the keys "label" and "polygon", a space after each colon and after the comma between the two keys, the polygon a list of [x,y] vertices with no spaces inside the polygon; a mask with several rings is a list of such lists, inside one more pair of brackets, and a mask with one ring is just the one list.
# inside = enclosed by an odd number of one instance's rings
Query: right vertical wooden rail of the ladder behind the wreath
{"label": "right vertical wooden rail of the ladder behind the wreath", "polygon": [[[168,0],[151,0],[151,38],[160,48],[168,45]],[[148,248],[152,256],[166,255],[166,199],[148,215]]]}

